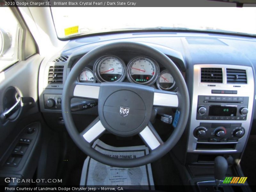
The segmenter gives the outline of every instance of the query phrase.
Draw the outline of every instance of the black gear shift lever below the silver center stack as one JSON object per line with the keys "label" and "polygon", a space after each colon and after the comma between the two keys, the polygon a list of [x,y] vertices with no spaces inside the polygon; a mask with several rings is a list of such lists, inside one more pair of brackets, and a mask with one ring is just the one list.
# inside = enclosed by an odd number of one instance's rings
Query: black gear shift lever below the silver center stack
{"label": "black gear shift lever below the silver center stack", "polygon": [[214,160],[214,177],[215,182],[218,186],[220,185],[221,180],[223,180],[224,176],[226,175],[228,170],[228,162],[222,156],[217,156]]}

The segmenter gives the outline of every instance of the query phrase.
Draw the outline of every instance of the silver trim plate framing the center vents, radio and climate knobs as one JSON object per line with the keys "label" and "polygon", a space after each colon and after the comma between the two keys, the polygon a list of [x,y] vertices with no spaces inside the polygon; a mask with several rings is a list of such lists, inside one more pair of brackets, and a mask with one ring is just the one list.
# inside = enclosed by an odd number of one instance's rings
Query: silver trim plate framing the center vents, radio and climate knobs
{"label": "silver trim plate framing the center vents, radio and climate knobs", "polygon": [[[200,71],[201,68],[222,68],[223,73],[223,83],[201,83],[200,81]],[[226,68],[233,69],[244,69],[247,74],[247,84],[227,84]],[[208,85],[216,85],[214,87]],[[241,87],[234,87],[234,85],[239,85]],[[212,94],[211,90],[237,90],[237,94]],[[212,96],[237,96],[237,97],[249,97],[248,101],[248,114],[247,119],[237,121],[237,120],[196,120],[197,113],[197,102],[198,95],[212,95]],[[194,65],[194,78],[193,78],[193,95],[192,95],[192,107],[191,107],[191,119],[189,126],[189,137],[188,137],[188,148],[187,151],[190,153],[231,153],[237,152],[240,153],[244,149],[248,133],[250,130],[251,118],[252,118],[252,109],[253,109],[253,100],[254,100],[254,76],[252,67],[240,66],[240,65],[221,65],[221,64],[196,64]],[[193,135],[194,129],[199,126],[200,123],[241,123],[242,127],[245,129],[245,134],[242,138],[236,143],[236,148],[234,150],[196,150],[197,139]],[[202,142],[198,142],[202,143]],[[206,142],[211,143],[211,142]],[[225,143],[234,143],[234,142],[225,142]],[[216,143],[212,143],[216,144]]]}

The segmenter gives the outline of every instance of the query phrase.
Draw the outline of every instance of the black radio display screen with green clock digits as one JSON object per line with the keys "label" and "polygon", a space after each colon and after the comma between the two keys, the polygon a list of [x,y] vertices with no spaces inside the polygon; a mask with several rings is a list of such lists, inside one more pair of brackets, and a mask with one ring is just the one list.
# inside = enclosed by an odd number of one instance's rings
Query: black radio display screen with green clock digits
{"label": "black radio display screen with green clock digits", "polygon": [[209,116],[236,116],[237,106],[210,105]]}

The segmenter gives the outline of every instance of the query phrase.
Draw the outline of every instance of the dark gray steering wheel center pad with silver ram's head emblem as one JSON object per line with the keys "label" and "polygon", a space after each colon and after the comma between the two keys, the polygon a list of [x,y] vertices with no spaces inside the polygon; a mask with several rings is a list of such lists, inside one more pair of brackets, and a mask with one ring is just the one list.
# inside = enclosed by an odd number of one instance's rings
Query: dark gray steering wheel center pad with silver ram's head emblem
{"label": "dark gray steering wheel center pad with silver ram's head emblem", "polygon": [[138,134],[149,122],[154,89],[131,83],[102,83],[99,117],[103,126],[118,136]]}

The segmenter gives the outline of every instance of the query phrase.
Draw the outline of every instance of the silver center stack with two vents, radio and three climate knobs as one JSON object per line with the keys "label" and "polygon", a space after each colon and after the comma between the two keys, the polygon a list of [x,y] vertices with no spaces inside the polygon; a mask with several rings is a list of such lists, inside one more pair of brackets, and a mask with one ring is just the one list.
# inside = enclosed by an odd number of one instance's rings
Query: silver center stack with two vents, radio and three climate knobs
{"label": "silver center stack with two vents, radio and three climate knobs", "polygon": [[193,80],[188,152],[241,153],[252,118],[252,68],[198,64]]}

